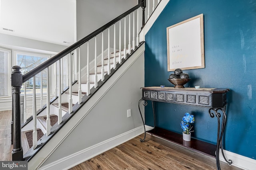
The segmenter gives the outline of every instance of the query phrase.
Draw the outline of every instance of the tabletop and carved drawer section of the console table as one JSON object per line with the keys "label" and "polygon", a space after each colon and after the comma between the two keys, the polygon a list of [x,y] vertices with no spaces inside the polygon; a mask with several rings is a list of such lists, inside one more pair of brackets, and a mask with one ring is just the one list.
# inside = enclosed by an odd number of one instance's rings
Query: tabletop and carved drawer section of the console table
{"label": "tabletop and carved drawer section of the console table", "polygon": [[226,104],[228,89],[216,88],[180,88],[143,87],[142,96],[145,100],[168,103],[188,104],[202,107],[222,107]]}

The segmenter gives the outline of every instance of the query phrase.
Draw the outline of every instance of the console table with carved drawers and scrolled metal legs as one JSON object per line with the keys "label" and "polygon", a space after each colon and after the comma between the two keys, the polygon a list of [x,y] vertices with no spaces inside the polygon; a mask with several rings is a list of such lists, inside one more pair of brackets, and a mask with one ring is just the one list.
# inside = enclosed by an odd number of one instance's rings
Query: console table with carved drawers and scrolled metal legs
{"label": "console table with carved drawers and scrolled metal legs", "polygon": [[[164,138],[168,141],[172,141],[184,147],[189,147],[211,156],[216,156],[216,166],[220,170],[220,149],[225,161],[231,165],[232,160],[227,160],[224,156],[223,147],[222,147],[222,138],[224,134],[224,129],[226,126],[226,94],[229,89],[220,89],[220,88],[174,88],[174,87],[142,87],[142,98],[138,102],[138,108],[140,111],[140,103],[144,106],[148,104],[148,100],[152,101],[152,109],[154,114],[154,129],[147,131],[152,135]],[[217,131],[217,144],[212,145],[203,141],[196,139],[191,139],[191,141],[183,141],[182,135],[178,133],[173,133],[165,129],[156,127],[156,117],[154,102],[167,102],[174,104],[184,104],[191,106],[199,107],[208,107],[210,117],[217,117],[218,120],[218,131]],[[146,128],[145,123],[140,111],[142,122],[144,125],[144,139],[140,139],[141,142],[145,141],[146,138]],[[221,119],[222,115],[222,119]],[[222,121],[222,123],[220,123]]]}

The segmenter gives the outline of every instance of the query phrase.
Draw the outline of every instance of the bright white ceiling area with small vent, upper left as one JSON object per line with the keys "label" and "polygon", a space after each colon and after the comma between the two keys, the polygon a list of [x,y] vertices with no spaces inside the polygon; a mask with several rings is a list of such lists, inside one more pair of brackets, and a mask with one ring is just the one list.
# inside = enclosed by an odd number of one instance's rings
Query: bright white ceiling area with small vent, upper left
{"label": "bright white ceiling area with small vent, upper left", "polygon": [[0,33],[70,46],[75,13],[76,0],[0,0]]}

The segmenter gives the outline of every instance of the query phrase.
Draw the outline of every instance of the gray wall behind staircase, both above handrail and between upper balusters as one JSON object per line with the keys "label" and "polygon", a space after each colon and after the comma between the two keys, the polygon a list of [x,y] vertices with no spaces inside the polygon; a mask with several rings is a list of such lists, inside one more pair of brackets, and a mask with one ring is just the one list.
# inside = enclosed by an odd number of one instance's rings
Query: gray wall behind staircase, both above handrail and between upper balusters
{"label": "gray wall behind staircase, both above handrail and between upper balusters", "polygon": [[[96,29],[102,27],[109,21],[120,16],[130,8],[138,4],[138,0],[77,0],[76,1],[76,34],[77,40],[84,38]],[[124,30],[124,20],[122,23],[122,31]],[[128,18],[126,18],[126,24],[128,23]],[[128,26],[128,25],[127,25]],[[110,43],[114,41],[114,27],[110,27]],[[116,24],[116,49],[119,49],[119,22]],[[128,41],[128,28],[126,29],[127,41]],[[104,50],[107,49],[107,37],[108,31],[104,31]],[[123,35],[123,33],[122,33]],[[97,56],[101,53],[101,36],[97,36]],[[89,41],[89,58],[90,61],[94,59],[94,44],[95,41],[92,39]],[[124,39],[122,39],[122,49],[123,49]],[[110,46],[113,48],[113,45]],[[126,45],[128,47],[128,43]],[[81,67],[86,66],[87,57],[87,43],[81,46]]]}

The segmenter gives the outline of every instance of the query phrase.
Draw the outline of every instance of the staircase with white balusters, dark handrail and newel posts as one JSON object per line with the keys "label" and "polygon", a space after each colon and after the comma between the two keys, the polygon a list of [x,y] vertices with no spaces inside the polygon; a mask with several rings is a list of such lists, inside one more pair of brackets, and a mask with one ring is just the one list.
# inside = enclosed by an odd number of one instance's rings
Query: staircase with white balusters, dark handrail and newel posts
{"label": "staircase with white balusters, dark handrail and newel posts", "polygon": [[[163,5],[162,9],[165,5]],[[142,7],[142,11],[139,10],[140,7]],[[12,124],[12,141],[14,143],[13,160],[27,160],[30,164],[29,166],[35,168],[43,166],[44,162],[50,159],[49,156],[54,153],[54,150],[58,150],[58,147],[62,145],[64,140],[69,138],[69,134],[75,131],[75,128],[80,125],[79,123],[89,119],[85,119],[85,117],[88,117],[88,113],[95,108],[95,104],[104,98],[104,95],[111,90],[111,87],[114,86],[118,79],[125,74],[128,68],[143,53],[144,42],[139,42],[139,40],[143,39],[144,35],[140,37],[139,28],[144,26],[145,20],[142,20],[142,22],[140,22],[142,25],[140,25],[139,16],[141,15],[142,18],[144,18],[144,10],[145,2],[142,0],[140,4],[134,8],[74,43],[23,76],[20,74],[20,68],[18,66],[13,67],[12,86],[14,91],[17,92],[20,90],[19,87],[22,83],[25,83],[42,70],[51,66],[55,66],[56,76],[58,76],[58,83],[56,83],[56,89],[58,90],[56,90],[55,97],[50,98],[48,81],[46,104],[37,111],[33,108],[33,116],[22,124],[22,129],[17,128],[20,123],[20,116],[17,114],[20,112],[20,107],[16,105],[16,103],[19,104],[20,97],[18,93],[13,94],[15,112]],[[140,14],[140,12],[142,14]],[[124,30],[122,31],[121,24],[124,24]],[[119,32],[116,31],[118,29]],[[110,38],[110,31],[114,31],[114,39],[112,40]],[[99,39],[102,41],[100,46],[96,43]],[[86,53],[80,53],[80,49],[83,49]],[[97,49],[102,49],[101,53],[99,53]],[[63,66],[61,64],[63,63],[63,57],[67,57],[67,87],[62,86],[63,79],[61,77],[63,74]],[[83,68],[80,67],[80,58],[82,57],[86,57],[87,60],[87,64]],[[131,57],[132,59],[130,59]],[[126,64],[129,60],[131,61]],[[57,70],[57,65],[59,70]],[[77,70],[76,67],[78,67]],[[139,66],[136,68],[138,67]],[[47,79],[49,80],[49,78],[50,69],[48,69]],[[22,80],[22,82],[20,82],[20,80]],[[143,80],[141,82],[144,82]],[[132,77],[126,83],[132,83]],[[139,87],[135,89],[137,90]],[[33,98],[33,106],[36,106],[35,87],[33,88]],[[56,120],[57,118],[58,120]],[[97,121],[95,121],[95,123],[97,123]],[[84,130],[89,131],[89,129],[83,129],[82,131]],[[31,137],[31,131],[32,147],[31,144],[30,146],[28,145],[28,141],[31,141],[31,139],[27,138],[24,140],[26,141],[24,143],[22,143],[20,139],[20,136],[22,138],[26,138],[27,136]],[[44,134],[43,136],[40,131]],[[30,135],[26,135],[26,133]],[[51,142],[49,143],[49,141]],[[26,152],[27,150],[28,152]],[[42,156],[44,154],[48,156]],[[38,163],[38,161],[40,163]]]}

